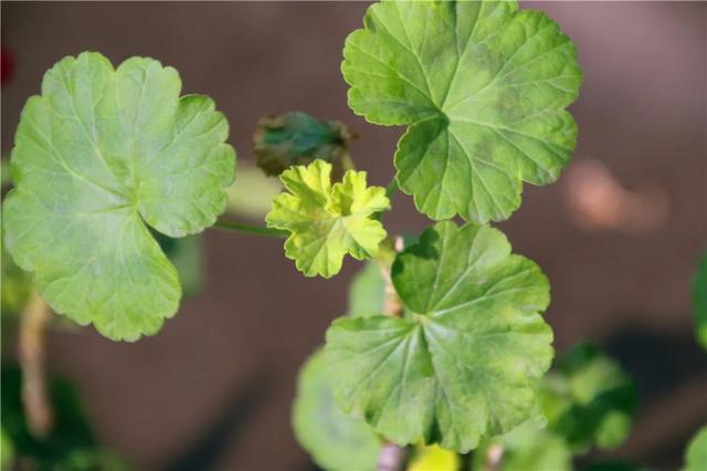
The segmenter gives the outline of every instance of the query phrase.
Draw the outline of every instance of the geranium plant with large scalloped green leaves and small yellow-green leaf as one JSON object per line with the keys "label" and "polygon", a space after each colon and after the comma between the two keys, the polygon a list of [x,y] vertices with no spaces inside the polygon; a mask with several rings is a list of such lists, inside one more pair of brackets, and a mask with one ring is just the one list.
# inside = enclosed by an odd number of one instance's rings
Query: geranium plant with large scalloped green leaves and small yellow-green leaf
{"label": "geranium plant with large scalloped green leaves and small yellow-green leaf", "polygon": [[[239,172],[213,101],[181,95],[154,59],[61,60],[22,112],[4,248],[55,313],[114,341],[178,312],[165,240],[211,227],[283,238],[305,276],[367,261],[299,379],[294,428],[324,468],[566,469],[622,442],[631,379],[585,344],[547,374],[549,281],[490,226],[518,209],[524,182],[551,184],[570,161],[572,41],[514,1],[382,1],[346,40],[341,71],[354,113],[404,126],[397,174],[369,186],[341,123],[268,116],[254,149],[283,187],[252,226],[219,219]],[[398,190],[432,220],[418,237],[386,229]]]}

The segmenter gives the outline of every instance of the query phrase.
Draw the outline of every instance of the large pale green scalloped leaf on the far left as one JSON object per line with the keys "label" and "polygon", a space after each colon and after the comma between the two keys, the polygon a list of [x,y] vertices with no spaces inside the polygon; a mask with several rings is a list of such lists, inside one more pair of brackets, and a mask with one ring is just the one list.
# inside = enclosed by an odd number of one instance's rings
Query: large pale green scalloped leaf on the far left
{"label": "large pale green scalloped leaf on the far left", "polygon": [[42,297],[113,339],[155,334],[175,314],[177,272],[148,231],[211,226],[226,206],[235,154],[202,95],[180,97],[172,67],[98,53],[65,57],[24,109],[4,241]]}

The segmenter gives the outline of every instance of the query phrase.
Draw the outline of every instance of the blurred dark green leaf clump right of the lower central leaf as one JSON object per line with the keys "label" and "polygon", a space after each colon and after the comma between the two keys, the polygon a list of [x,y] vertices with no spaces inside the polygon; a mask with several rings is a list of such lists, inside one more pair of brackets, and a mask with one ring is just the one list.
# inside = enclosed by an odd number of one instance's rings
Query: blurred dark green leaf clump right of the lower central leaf
{"label": "blurred dark green leaf clump right of the lower central leaf", "polygon": [[599,348],[580,343],[558,358],[541,384],[548,429],[577,453],[619,447],[636,407],[633,379]]}

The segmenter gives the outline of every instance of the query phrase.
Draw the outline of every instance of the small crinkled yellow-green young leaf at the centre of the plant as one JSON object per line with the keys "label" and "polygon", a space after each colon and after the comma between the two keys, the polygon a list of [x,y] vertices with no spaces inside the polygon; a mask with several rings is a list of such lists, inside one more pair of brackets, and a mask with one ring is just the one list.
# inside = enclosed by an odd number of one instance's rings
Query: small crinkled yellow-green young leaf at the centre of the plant
{"label": "small crinkled yellow-green young leaf at the centre of the plant", "polygon": [[331,185],[331,165],[315,160],[281,176],[288,192],[273,199],[265,221],[287,230],[285,255],[306,276],[330,278],[341,270],[344,255],[370,259],[386,238],[382,224],[372,219],[390,207],[386,189],[367,187],[366,172],[349,170]]}

